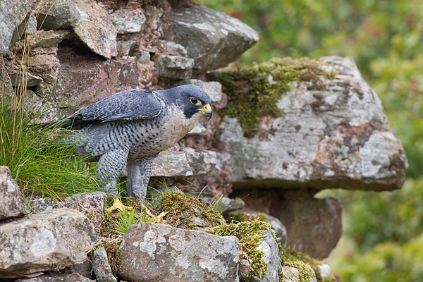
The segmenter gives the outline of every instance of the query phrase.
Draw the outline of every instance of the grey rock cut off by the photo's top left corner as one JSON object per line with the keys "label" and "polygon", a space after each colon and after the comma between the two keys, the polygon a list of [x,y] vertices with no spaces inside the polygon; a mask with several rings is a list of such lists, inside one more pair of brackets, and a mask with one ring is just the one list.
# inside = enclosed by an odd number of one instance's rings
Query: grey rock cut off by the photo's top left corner
{"label": "grey rock cut off by the photo's top left corner", "polygon": [[0,3],[0,54],[9,49],[23,34],[31,9],[27,1],[2,0]]}

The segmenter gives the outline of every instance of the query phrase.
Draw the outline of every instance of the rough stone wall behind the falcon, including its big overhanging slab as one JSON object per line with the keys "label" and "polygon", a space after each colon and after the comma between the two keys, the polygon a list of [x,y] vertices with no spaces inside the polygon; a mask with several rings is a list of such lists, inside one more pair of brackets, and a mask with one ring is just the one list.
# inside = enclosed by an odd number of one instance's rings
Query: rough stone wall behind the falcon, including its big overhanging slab
{"label": "rough stone wall behind the falcon, including its big overhanging slab", "polygon": [[259,39],[240,20],[188,0],[15,2],[0,4],[1,87],[36,92],[50,110],[39,122],[121,90],[199,85],[212,97],[212,119],[161,153],[152,176],[184,191],[245,197],[247,208],[280,219],[299,250],[326,257],[341,236],[341,204],[314,199],[319,190],[403,184],[403,148],[350,59],[321,58],[333,78],[290,83],[281,114],[260,117],[246,136],[236,117],[219,115],[232,93],[206,78]]}

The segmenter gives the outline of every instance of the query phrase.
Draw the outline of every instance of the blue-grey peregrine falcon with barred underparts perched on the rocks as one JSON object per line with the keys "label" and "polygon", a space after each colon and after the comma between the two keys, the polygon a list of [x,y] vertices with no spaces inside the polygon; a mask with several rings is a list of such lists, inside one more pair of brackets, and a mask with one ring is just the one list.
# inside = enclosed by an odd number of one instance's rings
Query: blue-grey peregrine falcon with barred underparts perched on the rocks
{"label": "blue-grey peregrine falcon with barred underparts perched on the rocks", "polygon": [[78,131],[63,142],[98,161],[97,178],[111,195],[117,195],[116,181],[126,164],[128,196],[144,202],[153,159],[190,132],[201,116],[210,119],[210,103],[195,85],[125,90],[66,119],[61,126]]}

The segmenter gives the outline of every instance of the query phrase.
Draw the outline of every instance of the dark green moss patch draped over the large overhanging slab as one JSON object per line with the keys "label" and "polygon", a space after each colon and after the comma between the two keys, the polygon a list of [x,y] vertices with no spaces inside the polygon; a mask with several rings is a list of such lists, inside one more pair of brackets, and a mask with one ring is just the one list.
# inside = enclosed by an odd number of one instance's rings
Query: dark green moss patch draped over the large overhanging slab
{"label": "dark green moss patch draped over the large overhanging slab", "polygon": [[311,81],[320,90],[323,83],[319,77],[333,78],[336,73],[326,73],[322,64],[308,58],[273,58],[249,68],[216,73],[214,79],[228,95],[228,105],[220,113],[238,118],[245,135],[252,136],[257,132],[259,117],[283,114],[276,103],[291,90],[291,82]]}

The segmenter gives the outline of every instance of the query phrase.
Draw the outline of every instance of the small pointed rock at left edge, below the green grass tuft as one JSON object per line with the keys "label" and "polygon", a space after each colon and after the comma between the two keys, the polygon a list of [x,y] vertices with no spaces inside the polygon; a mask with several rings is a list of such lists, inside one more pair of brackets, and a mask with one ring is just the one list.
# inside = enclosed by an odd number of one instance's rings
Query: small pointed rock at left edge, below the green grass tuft
{"label": "small pointed rock at left edge, below the green grass tuft", "polygon": [[7,166],[0,166],[0,221],[29,214],[25,199]]}

